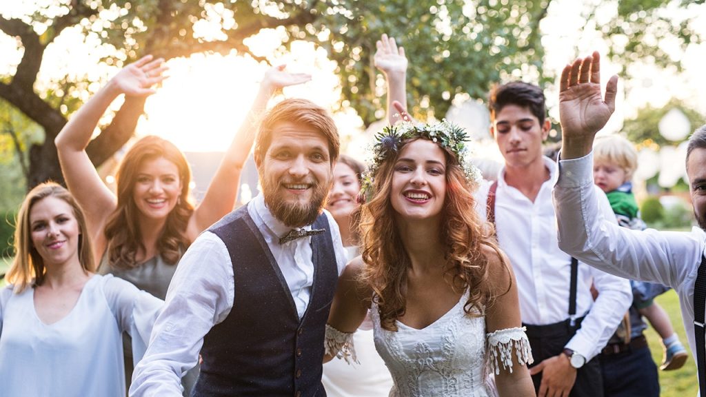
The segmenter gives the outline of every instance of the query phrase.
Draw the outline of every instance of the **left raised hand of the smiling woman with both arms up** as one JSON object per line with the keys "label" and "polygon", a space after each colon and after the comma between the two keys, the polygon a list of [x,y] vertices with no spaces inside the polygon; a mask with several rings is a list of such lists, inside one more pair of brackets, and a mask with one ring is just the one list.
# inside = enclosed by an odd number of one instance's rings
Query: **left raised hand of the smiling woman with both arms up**
{"label": "left raised hand of the smiling woman with both arms up", "polygon": [[160,81],[167,78],[162,73],[166,71],[167,66],[164,66],[164,59],[152,60],[152,55],[146,55],[138,61],[125,66],[111,79],[120,93],[128,96],[143,97],[152,95],[156,92],[152,87]]}

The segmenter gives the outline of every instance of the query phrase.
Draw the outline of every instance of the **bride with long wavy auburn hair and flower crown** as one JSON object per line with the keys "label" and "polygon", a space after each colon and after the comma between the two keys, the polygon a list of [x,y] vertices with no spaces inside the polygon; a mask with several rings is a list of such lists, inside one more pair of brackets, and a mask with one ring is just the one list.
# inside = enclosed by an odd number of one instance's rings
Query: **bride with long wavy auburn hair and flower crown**
{"label": "bride with long wavy auburn hair and flower crown", "polygon": [[352,333],[370,309],[390,396],[491,396],[491,374],[500,396],[534,396],[514,275],[474,211],[465,132],[407,122],[377,138],[363,254],[340,277],[327,358],[356,360]]}

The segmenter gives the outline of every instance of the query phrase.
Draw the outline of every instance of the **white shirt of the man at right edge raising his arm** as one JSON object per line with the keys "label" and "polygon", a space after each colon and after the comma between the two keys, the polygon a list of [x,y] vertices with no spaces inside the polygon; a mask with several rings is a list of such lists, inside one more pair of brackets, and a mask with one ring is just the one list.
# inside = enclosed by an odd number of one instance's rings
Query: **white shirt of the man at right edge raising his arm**
{"label": "white shirt of the man at right edge raising his arm", "polygon": [[691,351],[694,340],[694,283],[706,246],[706,233],[630,230],[606,221],[593,186],[593,153],[561,160],[554,188],[559,246],[611,274],[674,288]]}

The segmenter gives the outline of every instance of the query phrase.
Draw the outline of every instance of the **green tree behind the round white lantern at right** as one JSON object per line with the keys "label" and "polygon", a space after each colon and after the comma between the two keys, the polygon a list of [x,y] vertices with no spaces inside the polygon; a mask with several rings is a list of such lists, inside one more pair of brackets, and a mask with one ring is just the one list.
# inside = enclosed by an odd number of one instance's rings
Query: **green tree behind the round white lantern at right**
{"label": "green tree behind the round white lantern at right", "polygon": [[[680,100],[671,100],[664,107],[643,107],[638,111],[637,117],[626,120],[623,124],[623,133],[628,136],[628,139],[635,142],[638,146],[649,146],[656,143],[658,146],[674,145],[674,142],[667,141],[659,134],[659,120],[671,109],[679,109],[689,119],[691,128],[696,129],[706,123],[706,118],[703,114],[686,105]],[[686,140],[686,138],[685,138]]]}

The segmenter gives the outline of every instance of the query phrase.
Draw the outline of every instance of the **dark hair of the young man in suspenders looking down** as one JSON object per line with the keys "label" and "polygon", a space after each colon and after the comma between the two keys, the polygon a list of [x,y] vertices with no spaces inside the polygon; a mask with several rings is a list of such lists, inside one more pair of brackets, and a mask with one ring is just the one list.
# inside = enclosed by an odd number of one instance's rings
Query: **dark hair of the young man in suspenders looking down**
{"label": "dark hair of the young man in suspenders looking down", "polygon": [[546,118],[544,93],[542,93],[542,88],[537,87],[537,85],[513,81],[512,83],[496,85],[491,88],[488,95],[491,121],[495,120],[496,114],[507,105],[526,107],[537,117],[539,124],[544,123]]}

